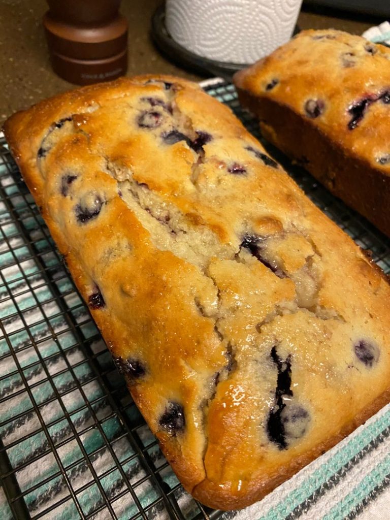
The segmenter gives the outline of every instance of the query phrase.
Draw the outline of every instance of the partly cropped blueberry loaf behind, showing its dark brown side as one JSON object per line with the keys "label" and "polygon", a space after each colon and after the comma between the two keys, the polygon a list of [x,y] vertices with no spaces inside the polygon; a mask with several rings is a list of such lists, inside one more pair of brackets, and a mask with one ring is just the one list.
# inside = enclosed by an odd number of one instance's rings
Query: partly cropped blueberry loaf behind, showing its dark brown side
{"label": "partly cropped blueberry loaf behind, showing its dark brown side", "polygon": [[235,76],[264,136],[390,236],[390,49],[304,31]]}

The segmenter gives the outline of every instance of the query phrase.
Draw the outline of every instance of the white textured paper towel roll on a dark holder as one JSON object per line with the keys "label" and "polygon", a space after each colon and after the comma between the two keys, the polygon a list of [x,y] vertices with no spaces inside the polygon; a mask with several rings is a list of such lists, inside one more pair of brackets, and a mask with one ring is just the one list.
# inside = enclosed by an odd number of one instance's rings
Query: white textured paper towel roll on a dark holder
{"label": "white textured paper towel roll on a dark holder", "polygon": [[218,61],[253,63],[287,42],[302,0],[166,0],[172,38]]}

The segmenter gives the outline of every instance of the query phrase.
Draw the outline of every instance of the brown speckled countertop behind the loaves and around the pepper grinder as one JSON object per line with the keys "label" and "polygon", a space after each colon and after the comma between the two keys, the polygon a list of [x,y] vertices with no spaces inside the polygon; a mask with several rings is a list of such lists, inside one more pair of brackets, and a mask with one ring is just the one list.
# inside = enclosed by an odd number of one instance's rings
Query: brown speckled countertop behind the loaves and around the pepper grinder
{"label": "brown speckled countertop behind the loaves and around the pepper grinder", "polygon": [[[154,47],[150,20],[160,4],[161,0],[122,0],[121,11],[129,22],[127,74],[164,72],[199,80]],[[50,68],[42,27],[46,10],[45,0],[0,0],[0,124],[11,113],[73,87]],[[332,27],[356,34],[374,23],[313,12],[301,12],[298,18],[301,29]]]}

